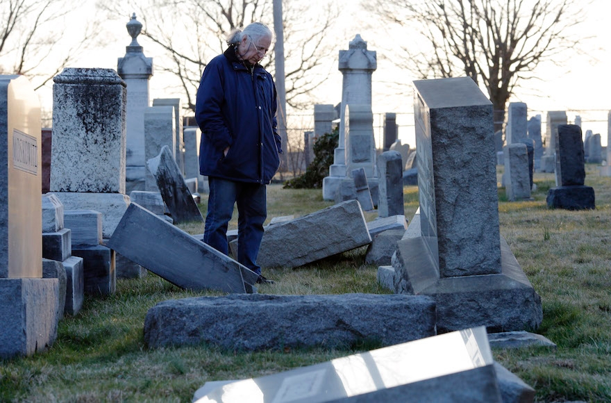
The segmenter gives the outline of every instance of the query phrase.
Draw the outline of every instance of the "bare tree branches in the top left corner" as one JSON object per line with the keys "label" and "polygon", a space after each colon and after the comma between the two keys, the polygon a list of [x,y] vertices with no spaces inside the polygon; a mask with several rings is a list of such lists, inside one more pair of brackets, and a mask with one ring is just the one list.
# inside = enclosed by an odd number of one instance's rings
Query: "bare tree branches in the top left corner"
{"label": "bare tree branches in the top left corner", "polygon": [[2,0],[0,74],[23,74],[36,90],[49,82],[92,42],[90,26],[69,44],[62,41],[65,19],[76,8],[70,0]]}

